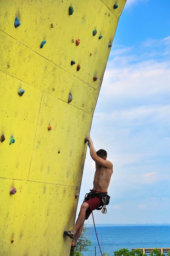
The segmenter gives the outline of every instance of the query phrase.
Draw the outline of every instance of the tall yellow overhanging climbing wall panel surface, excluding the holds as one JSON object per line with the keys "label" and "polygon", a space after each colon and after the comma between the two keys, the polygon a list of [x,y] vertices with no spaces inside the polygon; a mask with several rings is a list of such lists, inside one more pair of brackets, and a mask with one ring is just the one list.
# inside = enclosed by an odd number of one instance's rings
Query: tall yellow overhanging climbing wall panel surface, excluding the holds
{"label": "tall yellow overhanging climbing wall panel surface, excluding the holds", "polygon": [[0,256],[69,255],[63,231],[74,225],[84,138],[125,2],[0,1]]}

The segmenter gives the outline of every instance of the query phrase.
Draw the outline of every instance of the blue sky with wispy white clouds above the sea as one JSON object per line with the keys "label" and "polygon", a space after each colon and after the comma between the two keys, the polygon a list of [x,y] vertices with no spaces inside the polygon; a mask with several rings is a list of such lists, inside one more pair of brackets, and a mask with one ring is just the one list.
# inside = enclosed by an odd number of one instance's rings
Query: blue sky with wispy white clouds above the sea
{"label": "blue sky with wispy white clouds above the sea", "polygon": [[[170,0],[127,0],[119,20],[91,129],[114,163],[96,223],[170,223],[169,13]],[[87,149],[78,211],[94,168]]]}

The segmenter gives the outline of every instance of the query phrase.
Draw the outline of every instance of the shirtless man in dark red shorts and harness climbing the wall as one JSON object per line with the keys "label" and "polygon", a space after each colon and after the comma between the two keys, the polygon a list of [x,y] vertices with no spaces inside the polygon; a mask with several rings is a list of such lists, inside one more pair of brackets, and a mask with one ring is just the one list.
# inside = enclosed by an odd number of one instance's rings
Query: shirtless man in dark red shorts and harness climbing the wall
{"label": "shirtless man in dark red shorts and harness climbing the wall", "polygon": [[96,171],[94,174],[93,189],[86,194],[85,200],[81,205],[76,225],[70,231],[64,231],[66,236],[72,239],[71,251],[76,247],[76,242],[81,236],[83,225],[93,210],[101,207],[103,213],[106,213],[105,205],[109,203],[110,197],[107,195],[107,189],[110,184],[110,178],[113,173],[113,164],[107,160],[107,152],[99,149],[97,152],[94,148],[90,136],[85,138],[88,141],[90,156],[96,162]]}

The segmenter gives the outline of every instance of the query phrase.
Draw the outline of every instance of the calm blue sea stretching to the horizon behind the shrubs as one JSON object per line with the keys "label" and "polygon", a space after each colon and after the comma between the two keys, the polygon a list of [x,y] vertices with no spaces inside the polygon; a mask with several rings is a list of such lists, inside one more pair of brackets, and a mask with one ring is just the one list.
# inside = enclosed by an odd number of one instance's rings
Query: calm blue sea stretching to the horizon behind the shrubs
{"label": "calm blue sea stretching to the horizon behind the shrubs", "polygon": [[[84,233],[92,241],[89,252],[82,252],[83,256],[101,256],[94,227],[86,225]],[[116,250],[127,248],[170,248],[169,225],[115,225],[97,226],[96,232],[102,253],[114,255]]]}

